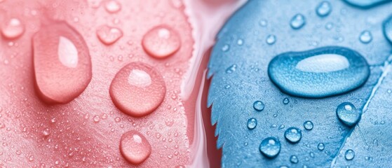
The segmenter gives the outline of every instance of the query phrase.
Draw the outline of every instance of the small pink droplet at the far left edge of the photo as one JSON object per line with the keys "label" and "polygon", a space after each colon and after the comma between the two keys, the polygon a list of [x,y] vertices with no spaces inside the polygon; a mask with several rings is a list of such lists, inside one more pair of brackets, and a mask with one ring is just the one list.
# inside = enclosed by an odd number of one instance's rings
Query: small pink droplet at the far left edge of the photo
{"label": "small pink droplet at the far left edge of the photo", "polygon": [[1,34],[5,38],[15,39],[20,37],[25,32],[25,26],[17,18],[11,18],[3,27],[1,27]]}

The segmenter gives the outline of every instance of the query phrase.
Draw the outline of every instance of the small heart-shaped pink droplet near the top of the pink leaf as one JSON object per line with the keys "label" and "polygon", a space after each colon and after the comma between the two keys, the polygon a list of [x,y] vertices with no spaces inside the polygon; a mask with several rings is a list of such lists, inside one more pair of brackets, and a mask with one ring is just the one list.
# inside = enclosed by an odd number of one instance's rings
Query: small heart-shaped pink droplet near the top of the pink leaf
{"label": "small heart-shaped pink droplet near the top of the pink leaf", "polygon": [[97,29],[97,37],[106,45],[111,45],[118,41],[123,36],[123,31],[116,27],[109,27],[102,25]]}

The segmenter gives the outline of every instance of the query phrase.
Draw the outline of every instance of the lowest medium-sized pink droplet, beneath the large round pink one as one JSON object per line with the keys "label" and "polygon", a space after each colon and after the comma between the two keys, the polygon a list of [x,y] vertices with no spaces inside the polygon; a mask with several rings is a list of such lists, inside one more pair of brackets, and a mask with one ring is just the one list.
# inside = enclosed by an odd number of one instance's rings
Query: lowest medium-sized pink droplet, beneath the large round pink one
{"label": "lowest medium-sized pink droplet, beneath the large round pink one", "polygon": [[121,137],[120,152],[128,162],[139,165],[149,158],[151,145],[140,132],[129,131]]}

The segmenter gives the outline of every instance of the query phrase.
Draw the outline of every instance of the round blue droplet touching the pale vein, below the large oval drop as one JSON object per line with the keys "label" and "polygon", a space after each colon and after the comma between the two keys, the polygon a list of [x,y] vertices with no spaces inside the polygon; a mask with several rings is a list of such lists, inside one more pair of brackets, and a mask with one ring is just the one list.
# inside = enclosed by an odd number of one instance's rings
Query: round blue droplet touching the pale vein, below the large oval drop
{"label": "round blue droplet touching the pale vein, below the large oval drop", "polygon": [[358,123],[358,121],[360,120],[362,111],[357,110],[356,106],[354,106],[350,102],[344,102],[337,106],[336,115],[337,118],[342,121],[342,123],[349,127],[352,127],[353,125],[356,125],[356,123]]}

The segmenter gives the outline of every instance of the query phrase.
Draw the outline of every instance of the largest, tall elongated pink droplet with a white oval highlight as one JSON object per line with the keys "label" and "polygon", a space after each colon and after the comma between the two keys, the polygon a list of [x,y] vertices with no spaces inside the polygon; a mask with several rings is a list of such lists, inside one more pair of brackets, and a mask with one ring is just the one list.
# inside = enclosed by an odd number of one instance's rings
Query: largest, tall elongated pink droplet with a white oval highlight
{"label": "largest, tall elongated pink droplet with a white oval highlight", "polygon": [[65,22],[41,27],[33,37],[36,90],[47,103],[67,103],[90,83],[91,59],[83,37]]}

